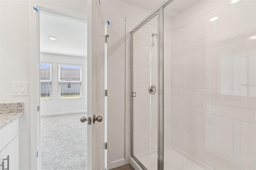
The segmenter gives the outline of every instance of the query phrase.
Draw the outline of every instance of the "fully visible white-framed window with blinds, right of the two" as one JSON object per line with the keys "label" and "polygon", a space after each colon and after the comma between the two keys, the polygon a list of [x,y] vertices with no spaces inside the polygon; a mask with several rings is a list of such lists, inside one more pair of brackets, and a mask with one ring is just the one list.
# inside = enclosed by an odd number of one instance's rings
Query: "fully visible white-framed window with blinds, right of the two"
{"label": "fully visible white-framed window with blinds, right of the two", "polygon": [[59,98],[82,97],[82,67],[58,65]]}

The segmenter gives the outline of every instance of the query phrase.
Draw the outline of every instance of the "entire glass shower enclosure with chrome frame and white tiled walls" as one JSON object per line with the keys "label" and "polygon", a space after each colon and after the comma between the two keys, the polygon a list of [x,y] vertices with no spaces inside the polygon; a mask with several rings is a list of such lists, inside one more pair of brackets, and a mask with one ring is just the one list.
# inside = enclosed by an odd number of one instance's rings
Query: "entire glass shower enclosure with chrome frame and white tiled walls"
{"label": "entire glass shower enclosure with chrome frame and white tiled walls", "polygon": [[130,58],[141,168],[256,169],[255,0],[168,0],[130,31]]}

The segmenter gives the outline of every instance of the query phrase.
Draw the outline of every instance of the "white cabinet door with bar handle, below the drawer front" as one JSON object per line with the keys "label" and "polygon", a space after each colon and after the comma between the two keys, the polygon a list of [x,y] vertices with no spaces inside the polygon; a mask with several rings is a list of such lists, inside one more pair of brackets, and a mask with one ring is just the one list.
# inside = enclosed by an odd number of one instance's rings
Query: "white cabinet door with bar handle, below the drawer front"
{"label": "white cabinet door with bar handle, below the drawer front", "polygon": [[[19,139],[16,136],[0,153],[1,162],[9,155],[9,170],[19,169]],[[4,160],[4,168],[7,168],[7,160]]]}

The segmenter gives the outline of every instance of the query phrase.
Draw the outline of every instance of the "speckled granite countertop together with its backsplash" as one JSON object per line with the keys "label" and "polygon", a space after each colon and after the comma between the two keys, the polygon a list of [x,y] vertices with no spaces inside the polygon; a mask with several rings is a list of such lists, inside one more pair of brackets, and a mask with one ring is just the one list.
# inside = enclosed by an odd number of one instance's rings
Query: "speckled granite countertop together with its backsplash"
{"label": "speckled granite countertop together with its backsplash", "polygon": [[0,129],[24,115],[24,103],[0,103]]}

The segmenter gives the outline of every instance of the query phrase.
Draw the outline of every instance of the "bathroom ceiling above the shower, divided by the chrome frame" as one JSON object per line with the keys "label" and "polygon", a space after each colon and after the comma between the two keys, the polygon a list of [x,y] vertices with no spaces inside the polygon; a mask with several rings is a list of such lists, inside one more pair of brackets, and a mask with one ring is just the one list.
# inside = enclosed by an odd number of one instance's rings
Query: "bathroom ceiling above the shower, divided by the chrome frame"
{"label": "bathroom ceiling above the shower, divided by the chrome frame", "polygon": [[[166,0],[121,0],[122,2],[126,2],[128,4],[138,6],[140,8],[144,8],[153,12],[156,10],[161,4],[163,4]],[[164,16],[169,18],[174,18],[178,14],[181,14],[200,0],[173,0],[168,6],[166,6],[166,10],[164,10]]]}

